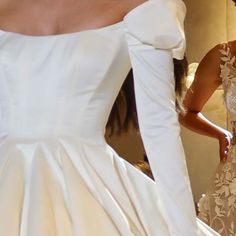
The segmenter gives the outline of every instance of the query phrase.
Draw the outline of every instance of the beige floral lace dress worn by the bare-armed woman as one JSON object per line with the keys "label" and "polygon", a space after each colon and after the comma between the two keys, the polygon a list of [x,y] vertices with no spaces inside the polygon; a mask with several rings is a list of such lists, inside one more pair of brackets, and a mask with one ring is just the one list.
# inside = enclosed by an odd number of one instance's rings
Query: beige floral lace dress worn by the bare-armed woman
{"label": "beige floral lace dress worn by the bare-armed woman", "polygon": [[233,143],[228,159],[216,169],[212,186],[199,201],[199,218],[223,236],[236,235],[236,68],[230,45],[221,52],[220,78],[229,114]]}

